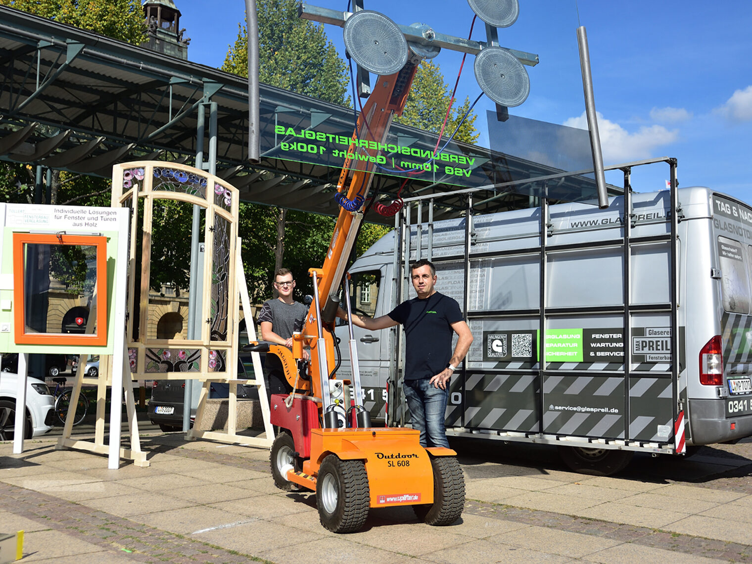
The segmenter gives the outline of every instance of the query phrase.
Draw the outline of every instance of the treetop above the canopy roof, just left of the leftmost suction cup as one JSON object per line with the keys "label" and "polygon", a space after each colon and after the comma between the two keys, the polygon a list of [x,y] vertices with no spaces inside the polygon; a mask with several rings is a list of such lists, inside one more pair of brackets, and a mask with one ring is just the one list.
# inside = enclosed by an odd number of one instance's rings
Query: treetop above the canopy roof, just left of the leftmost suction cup
{"label": "treetop above the canopy roof, just left of the leftmost suction cup", "polygon": [[[349,75],[323,25],[298,17],[298,0],[257,0],[259,81],[305,96],[350,105]],[[223,71],[248,76],[248,36],[239,26]]]}

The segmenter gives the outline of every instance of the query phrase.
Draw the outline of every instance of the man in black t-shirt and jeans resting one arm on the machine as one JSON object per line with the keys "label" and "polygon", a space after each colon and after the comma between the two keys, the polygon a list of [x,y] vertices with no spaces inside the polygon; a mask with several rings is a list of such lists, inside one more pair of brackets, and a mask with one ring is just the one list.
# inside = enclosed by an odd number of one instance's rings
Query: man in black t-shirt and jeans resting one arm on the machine
{"label": "man in black t-shirt and jeans resting one arm on the machine", "polygon": [[[472,333],[456,300],[438,293],[436,269],[426,259],[411,265],[417,297],[402,302],[389,314],[371,318],[353,314],[353,324],[375,331],[398,323],[405,326],[405,399],[410,408],[413,429],[420,431],[423,447],[449,447],[444,414],[449,399],[449,379],[465,358]],[[340,310],[339,317],[347,318]],[[452,352],[452,333],[457,344]]]}

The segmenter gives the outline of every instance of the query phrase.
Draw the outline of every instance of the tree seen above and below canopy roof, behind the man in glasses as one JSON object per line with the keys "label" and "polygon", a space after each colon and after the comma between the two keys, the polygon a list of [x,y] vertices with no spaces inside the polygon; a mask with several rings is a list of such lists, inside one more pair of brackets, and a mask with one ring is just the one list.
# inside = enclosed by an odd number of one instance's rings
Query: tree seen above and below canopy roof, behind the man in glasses
{"label": "tree seen above and below canopy roof, behind the man in glasses", "polygon": [[[298,17],[297,0],[258,0],[259,81],[326,102],[350,105],[346,97],[347,67],[326,38],[323,25]],[[222,70],[247,77],[248,36],[238,26]],[[317,214],[262,205],[243,205],[240,233],[245,265],[256,299],[272,291],[271,272],[281,266],[293,271],[299,296],[311,293],[308,267],[323,262],[334,220]]]}

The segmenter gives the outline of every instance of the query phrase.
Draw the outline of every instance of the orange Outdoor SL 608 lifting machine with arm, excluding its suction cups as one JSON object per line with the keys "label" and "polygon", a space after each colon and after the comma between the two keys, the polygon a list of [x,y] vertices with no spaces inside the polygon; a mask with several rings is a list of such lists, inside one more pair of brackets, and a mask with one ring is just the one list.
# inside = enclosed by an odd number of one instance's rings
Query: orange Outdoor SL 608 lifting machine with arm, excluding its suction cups
{"label": "orange Outdoor SL 608 lifting machine with arm, excluding its suction cups", "polygon": [[[385,142],[393,117],[405,108],[420,60],[411,51],[399,71],[378,77],[358,117],[348,154],[378,155],[359,140]],[[293,387],[290,396],[271,396],[271,423],[280,429],[271,447],[274,481],[283,490],[314,490],[321,523],[334,532],[356,531],[369,508],[394,505],[412,505],[426,523],[445,525],[462,514],[465,502],[465,483],[453,450],[421,447],[414,429],[371,427],[362,407],[351,321],[352,378],[336,378],[337,291],[363,219],[362,199],[368,195],[373,168],[370,159],[347,159],[342,167],[338,199],[343,202],[346,196],[344,203],[354,202],[348,206],[354,211],[341,208],[323,266],[309,271],[314,302],[302,333],[293,337],[293,350],[267,343],[246,347],[278,356]],[[311,361],[299,363],[304,345],[310,347]],[[299,365],[306,374],[299,372]],[[340,399],[344,385],[352,392],[347,410]]]}

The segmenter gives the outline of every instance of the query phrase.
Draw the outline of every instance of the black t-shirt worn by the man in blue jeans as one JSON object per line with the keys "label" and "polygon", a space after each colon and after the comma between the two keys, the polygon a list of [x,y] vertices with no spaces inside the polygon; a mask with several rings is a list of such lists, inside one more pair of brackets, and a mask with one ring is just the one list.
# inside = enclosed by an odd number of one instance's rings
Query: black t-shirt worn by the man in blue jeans
{"label": "black t-shirt worn by the man in blue jeans", "polygon": [[452,358],[451,324],[462,321],[455,299],[435,292],[426,299],[402,302],[390,314],[405,326],[405,380],[432,378]]}

